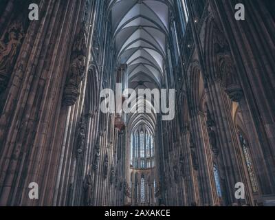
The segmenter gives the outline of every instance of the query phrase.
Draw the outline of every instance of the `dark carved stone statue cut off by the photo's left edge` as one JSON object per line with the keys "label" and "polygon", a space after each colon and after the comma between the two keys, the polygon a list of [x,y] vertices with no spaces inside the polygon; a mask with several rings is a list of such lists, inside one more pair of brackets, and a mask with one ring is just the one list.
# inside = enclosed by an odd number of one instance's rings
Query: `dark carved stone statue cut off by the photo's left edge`
{"label": "dark carved stone statue cut off by the photo's left edge", "polygon": [[0,94],[8,86],[23,37],[23,24],[21,21],[14,21],[0,40]]}

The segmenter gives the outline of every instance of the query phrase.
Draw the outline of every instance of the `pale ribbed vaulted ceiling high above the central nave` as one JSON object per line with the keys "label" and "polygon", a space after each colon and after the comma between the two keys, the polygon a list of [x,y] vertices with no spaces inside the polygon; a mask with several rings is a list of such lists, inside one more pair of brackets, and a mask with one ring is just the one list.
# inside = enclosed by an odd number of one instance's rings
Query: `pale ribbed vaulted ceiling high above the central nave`
{"label": "pale ribbed vaulted ceiling high above the central nave", "polygon": [[[118,63],[128,65],[129,87],[136,91],[160,89],[164,84],[169,7],[172,4],[172,0],[109,2]],[[153,113],[136,113],[129,118],[135,126],[145,123],[150,129],[154,129],[155,120]]]}

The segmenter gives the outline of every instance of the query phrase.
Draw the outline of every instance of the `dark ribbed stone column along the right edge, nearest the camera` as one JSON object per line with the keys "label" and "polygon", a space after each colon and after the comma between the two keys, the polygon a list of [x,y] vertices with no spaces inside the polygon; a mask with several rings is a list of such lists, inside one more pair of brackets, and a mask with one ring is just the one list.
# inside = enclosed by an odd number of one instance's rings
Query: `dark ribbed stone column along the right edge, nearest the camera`
{"label": "dark ribbed stone column along the right edge, nearest the camera", "polygon": [[[258,152],[258,156],[262,155],[261,160],[265,163],[257,162],[256,169],[268,173],[267,178],[261,179],[261,190],[263,194],[274,195],[274,19],[265,1],[209,2],[215,19],[228,39],[241,86],[245,88],[243,93],[248,102],[250,118],[259,138],[259,146],[252,146],[252,151]],[[245,21],[234,19],[236,3],[245,6]]]}

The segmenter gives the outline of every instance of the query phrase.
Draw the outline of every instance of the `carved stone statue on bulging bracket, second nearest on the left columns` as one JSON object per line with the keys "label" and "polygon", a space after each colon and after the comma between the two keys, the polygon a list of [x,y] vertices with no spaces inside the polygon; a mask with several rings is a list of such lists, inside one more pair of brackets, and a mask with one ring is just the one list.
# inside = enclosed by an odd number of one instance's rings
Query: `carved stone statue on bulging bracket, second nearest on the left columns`
{"label": "carved stone statue on bulging bracket, second nearest on the left columns", "polygon": [[63,94],[63,104],[72,106],[76,103],[80,95],[80,84],[85,78],[85,58],[87,54],[87,32],[85,24],[74,41],[71,60],[69,65],[69,74],[65,83]]}

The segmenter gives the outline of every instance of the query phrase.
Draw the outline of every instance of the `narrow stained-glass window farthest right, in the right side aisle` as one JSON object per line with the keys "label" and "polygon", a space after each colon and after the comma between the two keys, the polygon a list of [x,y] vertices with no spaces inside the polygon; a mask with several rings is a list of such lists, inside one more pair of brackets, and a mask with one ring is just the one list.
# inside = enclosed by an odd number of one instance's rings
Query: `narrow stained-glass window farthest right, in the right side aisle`
{"label": "narrow stained-glass window farthest right, in the right side aisle", "polygon": [[252,160],[250,157],[249,149],[248,149],[248,141],[245,140],[245,137],[239,133],[239,139],[241,142],[241,148],[243,150],[243,155],[245,155],[245,164],[248,168],[248,174],[250,176],[250,183],[252,186],[253,192],[258,192],[258,184],[255,178],[253,166],[252,166]]}

